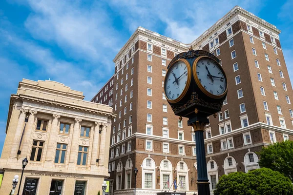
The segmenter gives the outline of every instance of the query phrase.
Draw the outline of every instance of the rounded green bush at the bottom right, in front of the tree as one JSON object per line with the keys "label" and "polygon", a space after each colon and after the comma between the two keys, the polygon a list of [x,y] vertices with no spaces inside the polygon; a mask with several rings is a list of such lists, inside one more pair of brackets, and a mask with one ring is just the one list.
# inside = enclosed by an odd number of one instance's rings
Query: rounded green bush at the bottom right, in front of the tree
{"label": "rounded green bush at the bottom right, in front of the tree", "polygon": [[293,195],[291,180],[271,169],[221,176],[214,195]]}

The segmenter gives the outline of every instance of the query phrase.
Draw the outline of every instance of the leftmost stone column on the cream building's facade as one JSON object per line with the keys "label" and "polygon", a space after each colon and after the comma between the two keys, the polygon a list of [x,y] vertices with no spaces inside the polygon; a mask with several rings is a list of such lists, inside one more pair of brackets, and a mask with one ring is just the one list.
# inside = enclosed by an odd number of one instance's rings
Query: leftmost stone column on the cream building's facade
{"label": "leftmost stone column on the cream building's facade", "polygon": [[19,121],[16,127],[15,136],[14,136],[9,158],[17,159],[17,151],[19,149],[19,145],[21,142],[21,135],[22,135],[23,127],[24,127],[24,119],[27,112],[28,110],[21,108],[21,114],[20,114]]}

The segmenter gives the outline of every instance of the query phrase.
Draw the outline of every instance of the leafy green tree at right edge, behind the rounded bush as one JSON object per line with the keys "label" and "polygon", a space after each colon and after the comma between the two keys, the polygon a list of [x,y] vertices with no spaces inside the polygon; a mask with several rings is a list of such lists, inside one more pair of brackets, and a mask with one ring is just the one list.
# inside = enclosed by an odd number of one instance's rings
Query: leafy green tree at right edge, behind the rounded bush
{"label": "leafy green tree at right edge, behind the rounded bush", "polygon": [[266,167],[288,176],[293,181],[293,141],[276,142],[258,153],[260,167]]}

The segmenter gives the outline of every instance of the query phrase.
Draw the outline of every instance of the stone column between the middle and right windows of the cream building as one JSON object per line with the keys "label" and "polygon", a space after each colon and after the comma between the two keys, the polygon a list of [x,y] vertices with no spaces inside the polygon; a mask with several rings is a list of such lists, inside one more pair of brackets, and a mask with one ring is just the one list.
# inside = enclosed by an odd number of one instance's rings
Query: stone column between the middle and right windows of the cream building
{"label": "stone column between the middle and right windows of the cream building", "polygon": [[77,153],[78,153],[78,140],[80,137],[80,122],[82,121],[81,118],[75,118],[73,135],[71,138],[71,149],[70,149],[70,156],[69,156],[69,169],[75,169],[75,164],[77,161]]}

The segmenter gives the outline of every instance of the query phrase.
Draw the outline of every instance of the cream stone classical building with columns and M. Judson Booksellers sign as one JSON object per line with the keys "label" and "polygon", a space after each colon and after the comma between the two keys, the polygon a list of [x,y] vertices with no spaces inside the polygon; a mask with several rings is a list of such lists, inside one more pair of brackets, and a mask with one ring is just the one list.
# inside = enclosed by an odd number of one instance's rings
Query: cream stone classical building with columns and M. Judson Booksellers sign
{"label": "cream stone classical building with columns and M. Judson Booksellers sign", "polygon": [[108,174],[112,108],[50,80],[23,79],[12,94],[0,158],[1,195],[14,175],[22,195],[97,195]]}

